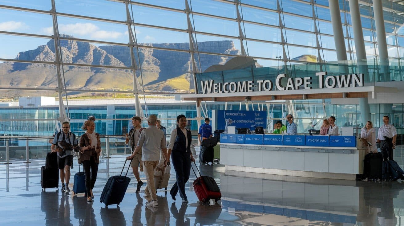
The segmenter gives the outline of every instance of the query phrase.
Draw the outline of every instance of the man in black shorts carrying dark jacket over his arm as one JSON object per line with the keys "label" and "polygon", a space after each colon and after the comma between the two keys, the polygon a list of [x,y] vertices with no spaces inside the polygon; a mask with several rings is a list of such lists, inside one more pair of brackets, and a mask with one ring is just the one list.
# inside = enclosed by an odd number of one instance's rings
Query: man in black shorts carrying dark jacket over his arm
{"label": "man in black shorts carrying dark jacket over his arm", "polygon": [[74,133],[72,132],[69,132],[69,130],[70,130],[70,123],[63,122],[62,131],[55,135],[55,138],[53,138],[52,145],[50,146],[50,150],[52,150],[52,152],[57,152],[57,164],[60,170],[62,193],[66,194],[70,192],[68,186],[70,181],[70,166],[73,165],[73,150],[63,150],[57,146],[57,142],[65,141],[67,143],[72,144],[73,146],[77,146],[78,141],[76,135],[74,135]]}

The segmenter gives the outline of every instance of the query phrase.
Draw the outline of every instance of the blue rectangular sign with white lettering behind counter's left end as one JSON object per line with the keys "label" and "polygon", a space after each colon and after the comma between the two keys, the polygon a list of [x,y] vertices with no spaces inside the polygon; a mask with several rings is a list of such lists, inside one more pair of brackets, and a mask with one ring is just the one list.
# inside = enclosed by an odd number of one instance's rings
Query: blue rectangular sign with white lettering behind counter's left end
{"label": "blue rectangular sign with white lettering behind counter's left end", "polygon": [[227,126],[236,126],[236,128],[249,128],[255,131],[255,127],[267,127],[266,111],[236,111],[236,110],[218,110],[217,111],[217,129],[225,129]]}

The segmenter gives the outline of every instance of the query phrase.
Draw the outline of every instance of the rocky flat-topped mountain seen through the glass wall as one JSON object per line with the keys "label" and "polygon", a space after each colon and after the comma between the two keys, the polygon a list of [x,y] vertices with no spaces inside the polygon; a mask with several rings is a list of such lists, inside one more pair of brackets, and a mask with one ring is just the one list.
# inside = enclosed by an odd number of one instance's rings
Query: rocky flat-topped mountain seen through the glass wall
{"label": "rocky flat-topped mountain seen through the glass wall", "polygon": [[[64,35],[64,37],[72,37]],[[139,44],[173,50],[188,50],[188,43]],[[131,65],[130,50],[126,46],[95,46],[88,42],[60,40],[62,60],[65,63],[90,64],[103,66],[128,67]],[[239,54],[233,41],[206,41],[198,44],[201,52],[217,52],[225,54]],[[138,62],[138,53],[134,51]],[[198,55],[195,55],[196,58]],[[150,48],[139,48],[140,64],[145,89],[149,91],[189,91],[193,88],[191,77],[187,74],[192,64],[187,52],[166,51]],[[199,54],[201,69],[213,64],[224,64],[230,57]],[[55,61],[54,40],[35,50],[19,52],[16,59],[33,61]],[[72,89],[101,88],[101,89],[133,89],[133,79],[130,70],[64,66],[66,85]],[[27,64],[5,62],[0,64],[0,82],[3,86],[21,87],[56,87],[56,67],[52,64]],[[140,71],[137,70],[137,76]],[[173,80],[174,79],[174,80]],[[173,81],[188,84],[179,89]],[[170,81],[170,82],[168,82]],[[185,82],[185,83],[184,83]],[[139,78],[139,83],[141,79]],[[191,84],[191,85],[189,85]],[[190,87],[191,86],[191,87]],[[9,91],[10,92],[10,91]],[[32,93],[32,92],[31,92]],[[17,93],[13,93],[16,95]],[[20,93],[24,95],[24,92]],[[19,95],[19,96],[21,96]],[[26,95],[26,92],[25,92]]]}

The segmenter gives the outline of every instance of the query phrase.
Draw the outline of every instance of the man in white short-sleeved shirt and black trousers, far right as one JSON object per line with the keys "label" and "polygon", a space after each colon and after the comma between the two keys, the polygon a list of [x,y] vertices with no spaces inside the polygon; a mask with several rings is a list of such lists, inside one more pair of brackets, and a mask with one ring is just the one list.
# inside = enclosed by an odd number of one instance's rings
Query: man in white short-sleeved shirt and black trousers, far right
{"label": "man in white short-sleeved shirt and black trousers, far right", "polygon": [[396,127],[389,124],[389,116],[383,116],[384,124],[380,126],[377,135],[377,143],[380,143],[380,151],[383,154],[383,160],[393,160],[393,148],[396,145],[397,131]]}

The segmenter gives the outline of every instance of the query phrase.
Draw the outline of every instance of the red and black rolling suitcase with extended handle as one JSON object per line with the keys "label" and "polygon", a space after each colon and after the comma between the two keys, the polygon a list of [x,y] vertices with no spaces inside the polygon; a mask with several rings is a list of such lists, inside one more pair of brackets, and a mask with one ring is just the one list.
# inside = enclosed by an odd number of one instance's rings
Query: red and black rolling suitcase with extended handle
{"label": "red and black rolling suitcase with extended handle", "polygon": [[[196,164],[195,167],[198,170],[199,175],[201,175]],[[196,176],[194,168],[192,166],[191,168]],[[196,180],[194,181],[194,190],[199,201],[202,203],[208,203],[210,199],[215,199],[215,202],[217,202],[217,200],[221,199],[222,197],[219,186],[217,186],[215,179],[210,176],[196,176]]]}

